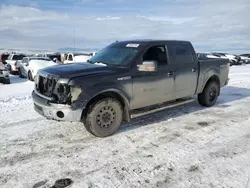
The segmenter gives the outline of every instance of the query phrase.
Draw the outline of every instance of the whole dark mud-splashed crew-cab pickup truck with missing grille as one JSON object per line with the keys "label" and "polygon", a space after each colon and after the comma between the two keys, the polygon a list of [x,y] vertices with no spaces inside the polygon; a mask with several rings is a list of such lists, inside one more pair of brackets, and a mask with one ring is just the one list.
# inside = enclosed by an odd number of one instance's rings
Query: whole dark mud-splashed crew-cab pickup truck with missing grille
{"label": "whole dark mud-splashed crew-cab pickup truck with missing grille", "polygon": [[39,71],[35,110],[48,119],[83,122],[93,135],[114,134],[131,112],[198,95],[210,107],[229,78],[227,59],[198,61],[187,41],[114,42],[88,62]]}

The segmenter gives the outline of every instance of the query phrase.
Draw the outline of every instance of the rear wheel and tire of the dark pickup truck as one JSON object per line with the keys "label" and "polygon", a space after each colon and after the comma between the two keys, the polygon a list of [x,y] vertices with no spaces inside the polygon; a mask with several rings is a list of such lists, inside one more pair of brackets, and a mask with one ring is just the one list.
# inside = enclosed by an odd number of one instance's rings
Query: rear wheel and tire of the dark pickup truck
{"label": "rear wheel and tire of the dark pickup truck", "polygon": [[213,106],[220,93],[219,84],[216,82],[208,82],[202,93],[198,94],[198,102],[202,106]]}

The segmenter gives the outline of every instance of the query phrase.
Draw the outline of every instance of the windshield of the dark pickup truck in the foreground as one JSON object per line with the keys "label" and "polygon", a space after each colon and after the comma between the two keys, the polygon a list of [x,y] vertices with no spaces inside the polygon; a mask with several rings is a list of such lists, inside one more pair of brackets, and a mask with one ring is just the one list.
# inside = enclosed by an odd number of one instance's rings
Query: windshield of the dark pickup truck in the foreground
{"label": "windshield of the dark pickup truck in the foreground", "polygon": [[104,63],[111,66],[127,65],[137,54],[138,49],[128,47],[106,47],[91,57],[90,63]]}

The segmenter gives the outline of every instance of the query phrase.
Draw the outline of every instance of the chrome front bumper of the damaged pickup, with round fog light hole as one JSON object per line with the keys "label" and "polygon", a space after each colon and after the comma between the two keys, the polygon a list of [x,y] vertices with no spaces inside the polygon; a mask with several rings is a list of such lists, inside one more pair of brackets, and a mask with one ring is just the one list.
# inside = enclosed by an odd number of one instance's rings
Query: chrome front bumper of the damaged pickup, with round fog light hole
{"label": "chrome front bumper of the damaged pickup, with round fog light hole", "polygon": [[82,109],[73,110],[69,105],[50,103],[49,100],[39,96],[35,91],[32,92],[34,109],[47,119],[57,121],[80,122]]}

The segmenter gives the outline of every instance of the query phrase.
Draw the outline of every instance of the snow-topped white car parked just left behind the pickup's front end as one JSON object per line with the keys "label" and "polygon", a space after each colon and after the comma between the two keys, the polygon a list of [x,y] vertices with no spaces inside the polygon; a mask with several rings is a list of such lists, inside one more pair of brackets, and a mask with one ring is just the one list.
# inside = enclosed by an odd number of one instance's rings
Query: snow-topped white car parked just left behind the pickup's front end
{"label": "snow-topped white car parked just left behind the pickup's front end", "polygon": [[20,78],[28,78],[30,81],[34,81],[39,69],[54,65],[57,64],[48,57],[24,57],[17,67]]}

